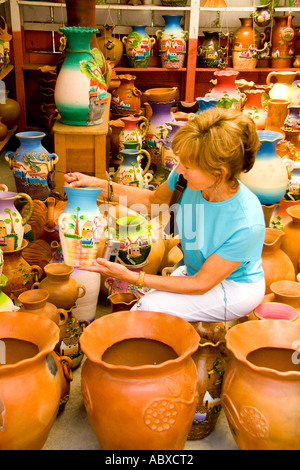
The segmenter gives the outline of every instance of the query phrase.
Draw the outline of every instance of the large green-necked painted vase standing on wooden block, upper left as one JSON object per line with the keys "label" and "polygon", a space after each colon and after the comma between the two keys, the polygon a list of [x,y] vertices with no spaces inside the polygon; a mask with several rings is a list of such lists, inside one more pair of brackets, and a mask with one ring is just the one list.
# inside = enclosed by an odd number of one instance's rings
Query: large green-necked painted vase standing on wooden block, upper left
{"label": "large green-necked painted vase standing on wooden block, upper left", "polygon": [[71,126],[97,125],[108,103],[107,85],[90,41],[96,28],[60,28],[68,40],[67,55],[57,77],[55,103],[61,122]]}

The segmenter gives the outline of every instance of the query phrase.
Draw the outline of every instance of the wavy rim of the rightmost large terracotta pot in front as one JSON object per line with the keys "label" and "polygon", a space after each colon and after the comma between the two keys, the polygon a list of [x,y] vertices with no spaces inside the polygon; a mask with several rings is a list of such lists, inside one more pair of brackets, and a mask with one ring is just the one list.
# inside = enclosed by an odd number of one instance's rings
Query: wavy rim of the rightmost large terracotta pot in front
{"label": "wavy rim of the rightmost large terracotta pot in front", "polygon": [[[299,380],[300,372],[296,370],[282,372],[269,367],[259,367],[251,363],[247,359],[247,355],[252,351],[268,346],[290,349],[293,343],[299,343],[299,338],[299,323],[291,322],[290,320],[273,319],[253,320],[237,324],[229,329],[225,336],[227,348],[242,364],[255,372],[263,373],[271,378],[278,379],[283,377],[291,380]],[[253,341],[253,346],[251,346],[251,340]],[[289,341],[288,347],[286,346],[287,341]],[[299,347],[295,351],[299,351]]]}

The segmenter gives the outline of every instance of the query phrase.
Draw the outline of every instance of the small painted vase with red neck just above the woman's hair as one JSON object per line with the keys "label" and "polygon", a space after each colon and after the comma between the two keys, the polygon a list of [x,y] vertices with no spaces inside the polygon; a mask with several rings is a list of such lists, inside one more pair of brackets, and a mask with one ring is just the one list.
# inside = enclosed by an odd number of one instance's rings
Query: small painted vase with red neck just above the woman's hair
{"label": "small painted vase with red neck just above the woman's hair", "polygon": [[217,83],[207,96],[218,98],[218,108],[242,109],[245,95],[235,84],[238,74],[237,70],[217,70],[214,72]]}

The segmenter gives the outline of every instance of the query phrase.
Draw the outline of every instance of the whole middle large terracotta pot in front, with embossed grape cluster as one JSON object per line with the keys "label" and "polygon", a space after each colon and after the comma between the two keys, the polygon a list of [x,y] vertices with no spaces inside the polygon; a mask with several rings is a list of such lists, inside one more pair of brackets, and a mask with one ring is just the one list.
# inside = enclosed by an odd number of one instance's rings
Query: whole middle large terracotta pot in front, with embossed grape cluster
{"label": "whole middle large terracotta pot in front, with embossed grape cluster", "polygon": [[84,405],[101,449],[183,449],[198,399],[195,329],[164,313],[116,312],[89,325],[80,344]]}

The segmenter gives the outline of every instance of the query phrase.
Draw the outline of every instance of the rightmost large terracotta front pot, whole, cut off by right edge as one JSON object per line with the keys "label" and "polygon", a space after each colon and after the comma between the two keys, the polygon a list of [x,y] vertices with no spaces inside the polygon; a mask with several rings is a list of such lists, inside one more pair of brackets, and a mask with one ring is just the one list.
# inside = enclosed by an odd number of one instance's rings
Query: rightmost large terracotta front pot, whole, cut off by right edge
{"label": "rightmost large terracotta front pot, whole, cut off by right edge", "polygon": [[299,449],[299,335],[300,325],[286,320],[247,321],[227,332],[233,358],[222,408],[241,450]]}

